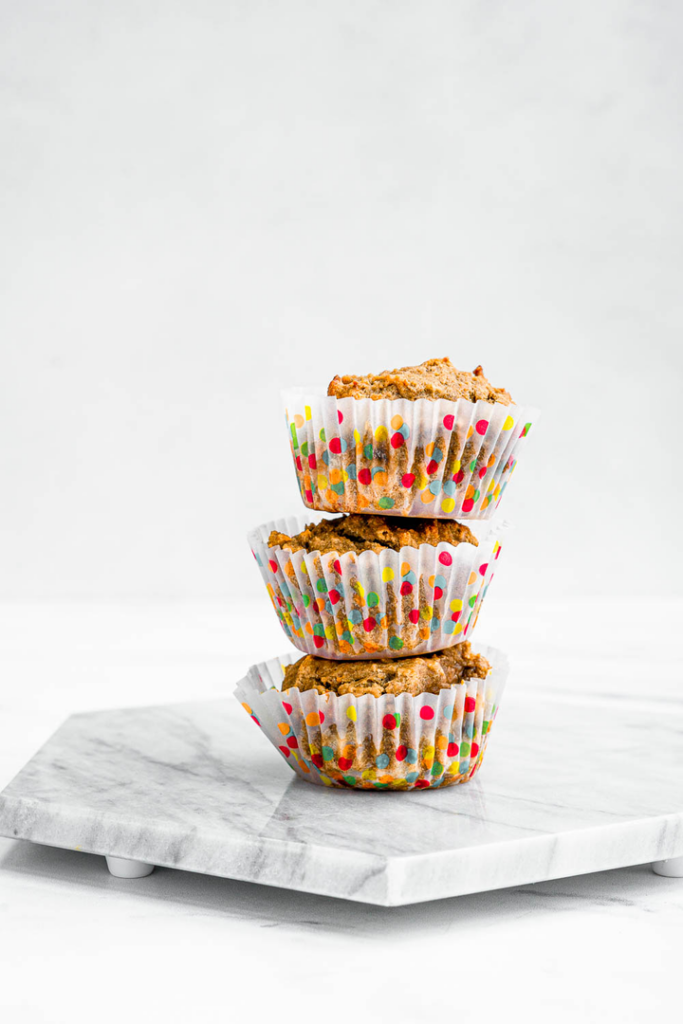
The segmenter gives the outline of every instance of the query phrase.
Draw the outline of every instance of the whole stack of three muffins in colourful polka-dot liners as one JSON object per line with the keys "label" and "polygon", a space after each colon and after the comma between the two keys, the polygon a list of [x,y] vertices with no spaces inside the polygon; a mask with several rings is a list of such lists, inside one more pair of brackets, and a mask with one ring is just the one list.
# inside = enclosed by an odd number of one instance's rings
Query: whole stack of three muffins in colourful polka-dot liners
{"label": "whole stack of three muffins in colourful polka-dot liners", "polygon": [[447,358],[285,401],[304,505],[342,515],[250,535],[304,656],[254,666],[237,695],[309,781],[465,782],[507,675],[502,651],[470,643],[501,553],[494,513],[537,411]]}

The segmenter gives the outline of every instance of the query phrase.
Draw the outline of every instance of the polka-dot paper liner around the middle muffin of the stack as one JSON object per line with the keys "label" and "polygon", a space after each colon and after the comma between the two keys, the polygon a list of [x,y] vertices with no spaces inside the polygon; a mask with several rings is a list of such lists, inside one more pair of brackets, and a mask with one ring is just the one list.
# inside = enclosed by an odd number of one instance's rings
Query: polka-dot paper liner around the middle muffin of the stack
{"label": "polka-dot paper liner around the middle muffin of the stack", "polygon": [[472,544],[380,554],[269,548],[271,530],[293,537],[292,516],[249,535],[280,625],[295,647],[333,659],[402,657],[469,639],[501,553],[506,523],[473,524]]}

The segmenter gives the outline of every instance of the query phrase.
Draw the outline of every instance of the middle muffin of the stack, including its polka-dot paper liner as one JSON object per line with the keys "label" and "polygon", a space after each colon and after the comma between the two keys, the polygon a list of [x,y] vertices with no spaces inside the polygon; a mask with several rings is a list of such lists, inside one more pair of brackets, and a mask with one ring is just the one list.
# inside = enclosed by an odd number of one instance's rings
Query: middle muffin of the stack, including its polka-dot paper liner
{"label": "middle muffin of the stack, including its polka-dot paper liner", "polygon": [[401,657],[471,636],[505,524],[293,516],[249,542],[284,632],[333,659]]}

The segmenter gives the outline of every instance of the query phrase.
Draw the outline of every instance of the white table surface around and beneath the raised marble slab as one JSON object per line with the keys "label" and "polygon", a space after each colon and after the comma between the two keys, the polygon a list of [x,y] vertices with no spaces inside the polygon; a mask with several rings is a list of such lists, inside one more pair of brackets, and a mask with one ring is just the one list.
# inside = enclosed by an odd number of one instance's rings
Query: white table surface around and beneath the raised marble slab
{"label": "white table surface around and beneath the raised marble slab", "polygon": [[[683,699],[682,614],[615,599],[522,615],[492,600],[477,635],[527,686],[605,697],[642,677]],[[215,698],[286,648],[265,602],[4,606],[0,787],[73,712]],[[124,882],[100,858],[0,840],[0,1010],[12,1024],[332,1024],[353,1004],[358,1020],[640,1022],[677,1015],[682,942],[683,881],[649,865],[382,908],[164,869]]]}

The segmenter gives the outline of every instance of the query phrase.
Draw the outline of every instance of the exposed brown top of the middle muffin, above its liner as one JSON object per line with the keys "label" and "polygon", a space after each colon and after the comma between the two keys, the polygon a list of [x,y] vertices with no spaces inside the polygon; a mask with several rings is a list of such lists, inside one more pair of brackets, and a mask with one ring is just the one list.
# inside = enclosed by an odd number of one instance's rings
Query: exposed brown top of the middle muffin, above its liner
{"label": "exposed brown top of the middle muffin, above its liner", "polygon": [[343,515],[338,519],[323,519],[309,523],[294,537],[273,529],[268,547],[287,548],[289,551],[319,551],[339,555],[347,551],[381,551],[390,548],[419,548],[421,544],[436,546],[447,544],[473,544],[478,541],[463,523],[452,519],[410,519],[397,515]]}

